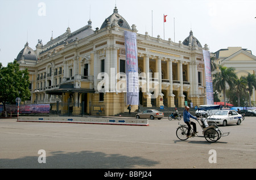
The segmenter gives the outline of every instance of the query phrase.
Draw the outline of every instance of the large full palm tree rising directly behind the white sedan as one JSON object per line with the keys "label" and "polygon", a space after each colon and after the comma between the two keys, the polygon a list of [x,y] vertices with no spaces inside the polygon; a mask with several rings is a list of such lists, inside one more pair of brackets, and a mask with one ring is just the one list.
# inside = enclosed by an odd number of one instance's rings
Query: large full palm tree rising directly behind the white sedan
{"label": "large full palm tree rising directly behind the white sedan", "polygon": [[234,87],[234,82],[237,79],[237,75],[234,73],[233,67],[218,66],[220,72],[213,74],[213,86],[218,91],[223,91],[224,95],[224,107],[226,107],[226,88],[227,84],[229,88]]}

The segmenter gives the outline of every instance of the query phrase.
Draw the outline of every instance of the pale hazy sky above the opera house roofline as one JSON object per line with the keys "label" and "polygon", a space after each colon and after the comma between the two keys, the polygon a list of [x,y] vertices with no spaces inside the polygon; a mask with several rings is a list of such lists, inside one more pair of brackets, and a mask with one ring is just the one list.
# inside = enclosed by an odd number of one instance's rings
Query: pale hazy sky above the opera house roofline
{"label": "pale hazy sky above the opera house roofline", "polygon": [[0,62],[13,62],[26,42],[35,50],[38,39],[47,44],[89,19],[100,28],[115,5],[140,34],[182,42],[192,30],[210,52],[239,46],[256,55],[256,0],[0,0]]}

